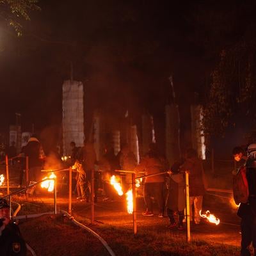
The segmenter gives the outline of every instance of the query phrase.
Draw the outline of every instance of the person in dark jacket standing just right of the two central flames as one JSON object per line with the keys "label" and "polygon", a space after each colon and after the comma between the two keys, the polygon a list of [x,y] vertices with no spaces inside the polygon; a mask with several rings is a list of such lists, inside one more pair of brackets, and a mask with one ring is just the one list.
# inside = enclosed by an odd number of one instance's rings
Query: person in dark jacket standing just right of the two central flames
{"label": "person in dark jacket standing just right of the two central flames", "polygon": [[[156,144],[151,143],[147,155],[141,160],[141,163],[136,166],[135,172],[145,172],[145,175],[161,173],[167,170],[165,164],[163,158],[160,157],[157,152]],[[158,216],[164,216],[164,186],[164,174],[145,177],[143,196],[147,209],[143,212],[143,216],[154,215],[152,196],[157,200]]]}

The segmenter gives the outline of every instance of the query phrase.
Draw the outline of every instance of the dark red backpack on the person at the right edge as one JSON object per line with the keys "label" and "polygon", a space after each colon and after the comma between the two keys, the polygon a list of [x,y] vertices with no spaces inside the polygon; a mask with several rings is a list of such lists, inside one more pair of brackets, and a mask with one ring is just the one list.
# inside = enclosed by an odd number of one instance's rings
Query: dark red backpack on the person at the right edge
{"label": "dark red backpack on the person at the right edge", "polygon": [[246,166],[242,166],[236,175],[233,175],[233,196],[237,205],[248,202],[248,181],[246,179]]}

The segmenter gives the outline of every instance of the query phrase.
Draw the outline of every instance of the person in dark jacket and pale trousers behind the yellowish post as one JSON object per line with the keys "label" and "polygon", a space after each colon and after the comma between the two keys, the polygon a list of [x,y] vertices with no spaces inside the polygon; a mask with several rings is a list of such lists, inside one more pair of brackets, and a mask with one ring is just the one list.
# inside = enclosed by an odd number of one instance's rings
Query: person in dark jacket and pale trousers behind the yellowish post
{"label": "person in dark jacket and pale trousers behind the yellowish post", "polygon": [[192,215],[192,205],[194,205],[195,224],[200,223],[200,211],[202,211],[204,188],[204,169],[202,160],[198,158],[196,150],[189,148],[186,152],[186,160],[181,166],[182,172],[189,171],[189,201]]}

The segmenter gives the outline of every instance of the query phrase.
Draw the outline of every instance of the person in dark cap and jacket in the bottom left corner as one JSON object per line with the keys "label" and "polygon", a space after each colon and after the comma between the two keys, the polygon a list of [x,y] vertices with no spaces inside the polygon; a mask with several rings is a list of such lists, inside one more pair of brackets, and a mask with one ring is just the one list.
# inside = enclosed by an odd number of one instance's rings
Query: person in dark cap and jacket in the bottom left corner
{"label": "person in dark cap and jacket in the bottom left corner", "polygon": [[19,227],[10,220],[10,207],[6,200],[0,199],[0,255],[25,256],[26,252]]}

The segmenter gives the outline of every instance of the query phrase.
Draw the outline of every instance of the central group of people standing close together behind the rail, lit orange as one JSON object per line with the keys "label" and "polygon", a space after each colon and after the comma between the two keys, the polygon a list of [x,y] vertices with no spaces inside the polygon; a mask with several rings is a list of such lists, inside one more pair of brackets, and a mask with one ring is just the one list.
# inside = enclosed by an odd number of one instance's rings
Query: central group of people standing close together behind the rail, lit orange
{"label": "central group of people standing close together behind the rail, lit orange", "polygon": [[[116,192],[110,184],[112,175],[118,175],[115,170],[124,170],[120,180],[122,187],[126,190],[132,186],[131,173],[145,176],[143,179],[143,198],[145,211],[143,216],[154,216],[154,202],[157,202],[158,217],[167,215],[170,219],[169,228],[183,229],[185,210],[185,180],[184,173],[189,171],[189,196],[191,212],[193,210],[193,221],[200,223],[200,211],[204,195],[204,169],[202,161],[198,158],[196,150],[189,148],[184,159],[178,159],[171,166],[164,156],[157,150],[156,144],[151,143],[148,152],[137,164],[136,157],[124,144],[120,152],[115,155],[113,147],[106,147],[104,155],[96,161],[93,144],[84,141],[84,147],[76,147],[76,143],[70,143],[72,148],[71,163],[77,169],[77,199],[81,201],[90,200],[90,182],[92,172],[95,173],[95,201],[99,183],[102,184],[104,200],[115,200]],[[95,171],[97,166],[97,172]],[[101,179],[99,180],[99,177]],[[193,208],[192,208],[193,206]],[[179,215],[179,223],[175,221],[176,213]]]}

